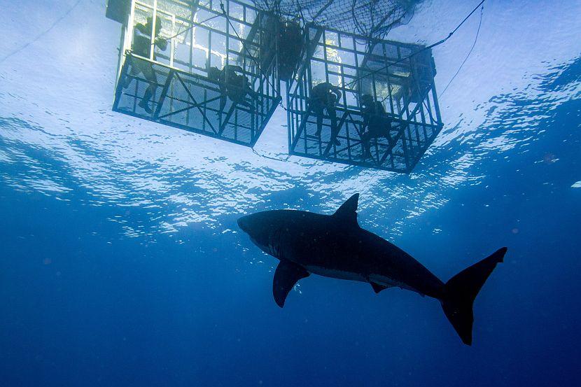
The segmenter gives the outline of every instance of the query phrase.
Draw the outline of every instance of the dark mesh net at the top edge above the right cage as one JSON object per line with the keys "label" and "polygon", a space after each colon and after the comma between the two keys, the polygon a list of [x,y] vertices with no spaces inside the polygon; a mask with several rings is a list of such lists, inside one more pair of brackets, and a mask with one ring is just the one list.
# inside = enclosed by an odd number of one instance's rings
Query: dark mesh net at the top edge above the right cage
{"label": "dark mesh net at the top edge above the right cage", "polygon": [[304,22],[382,38],[407,22],[421,0],[254,0],[262,10]]}

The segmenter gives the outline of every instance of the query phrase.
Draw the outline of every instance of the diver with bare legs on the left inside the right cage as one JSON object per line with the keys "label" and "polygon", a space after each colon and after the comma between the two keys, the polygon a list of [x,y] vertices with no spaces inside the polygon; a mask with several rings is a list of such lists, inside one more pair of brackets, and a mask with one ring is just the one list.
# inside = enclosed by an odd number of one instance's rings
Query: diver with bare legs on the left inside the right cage
{"label": "diver with bare legs on the left inside the right cage", "polygon": [[341,99],[341,92],[339,87],[331,85],[328,82],[319,83],[311,90],[311,97],[309,98],[309,108],[307,108],[307,116],[311,111],[316,115],[316,136],[321,136],[323,129],[323,117],[325,111],[331,121],[331,139],[335,145],[341,145],[337,140],[337,111],[335,111],[335,104]]}

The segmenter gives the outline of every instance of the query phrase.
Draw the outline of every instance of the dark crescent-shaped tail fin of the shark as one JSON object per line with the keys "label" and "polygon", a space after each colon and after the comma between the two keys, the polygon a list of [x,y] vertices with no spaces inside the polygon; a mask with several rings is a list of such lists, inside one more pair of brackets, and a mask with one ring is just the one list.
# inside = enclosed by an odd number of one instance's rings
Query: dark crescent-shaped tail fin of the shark
{"label": "dark crescent-shaped tail fin of the shark", "polygon": [[464,344],[472,344],[474,299],[496,264],[503,262],[506,250],[505,247],[500,248],[496,253],[453,276],[444,286],[442,308]]}

